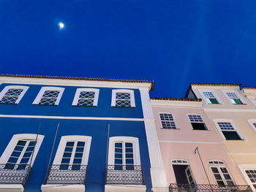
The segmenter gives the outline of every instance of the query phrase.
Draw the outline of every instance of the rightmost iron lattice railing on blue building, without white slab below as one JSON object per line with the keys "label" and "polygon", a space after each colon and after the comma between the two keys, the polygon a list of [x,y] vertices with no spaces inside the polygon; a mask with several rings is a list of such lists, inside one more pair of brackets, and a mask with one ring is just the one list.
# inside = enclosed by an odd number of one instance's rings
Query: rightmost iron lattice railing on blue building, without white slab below
{"label": "rightmost iron lattice railing on blue building, without white slab below", "polygon": [[141,166],[135,165],[108,165],[105,183],[107,185],[144,185],[143,170]]}

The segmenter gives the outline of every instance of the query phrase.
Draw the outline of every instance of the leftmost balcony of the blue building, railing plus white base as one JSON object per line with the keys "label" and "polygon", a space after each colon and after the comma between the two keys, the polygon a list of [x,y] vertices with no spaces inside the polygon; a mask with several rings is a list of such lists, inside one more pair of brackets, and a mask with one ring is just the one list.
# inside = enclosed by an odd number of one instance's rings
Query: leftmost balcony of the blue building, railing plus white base
{"label": "leftmost balcony of the blue building, railing plus white base", "polygon": [[0,164],[0,191],[1,188],[23,191],[30,170],[29,164]]}

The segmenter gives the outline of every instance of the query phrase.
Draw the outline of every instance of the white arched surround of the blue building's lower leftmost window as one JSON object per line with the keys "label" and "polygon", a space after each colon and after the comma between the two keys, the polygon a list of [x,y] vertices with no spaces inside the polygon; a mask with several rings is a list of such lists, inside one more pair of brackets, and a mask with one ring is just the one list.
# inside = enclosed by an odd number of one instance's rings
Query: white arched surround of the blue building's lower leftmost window
{"label": "white arched surround of the blue building's lower leftmost window", "polygon": [[39,151],[39,148],[42,144],[42,140],[44,139],[45,136],[43,135],[38,135],[37,134],[15,134],[12,136],[12,139],[10,140],[9,144],[4,150],[4,153],[1,155],[0,158],[0,164],[7,164],[8,159],[10,158],[10,155],[12,154],[14,148],[16,147],[18,140],[20,139],[31,139],[31,140],[36,140],[37,143],[34,147],[34,154],[33,154],[33,159],[29,158],[29,163],[31,162],[31,166],[34,164],[34,160],[37,157],[37,153]]}

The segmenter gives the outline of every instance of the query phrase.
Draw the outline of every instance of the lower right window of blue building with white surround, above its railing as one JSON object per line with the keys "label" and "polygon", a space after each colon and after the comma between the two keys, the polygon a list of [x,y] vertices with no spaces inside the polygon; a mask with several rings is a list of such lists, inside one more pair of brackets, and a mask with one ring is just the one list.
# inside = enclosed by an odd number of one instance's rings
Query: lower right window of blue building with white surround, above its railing
{"label": "lower right window of blue building with white surround, above its railing", "polygon": [[140,165],[138,138],[110,137],[108,164],[115,170],[133,170]]}

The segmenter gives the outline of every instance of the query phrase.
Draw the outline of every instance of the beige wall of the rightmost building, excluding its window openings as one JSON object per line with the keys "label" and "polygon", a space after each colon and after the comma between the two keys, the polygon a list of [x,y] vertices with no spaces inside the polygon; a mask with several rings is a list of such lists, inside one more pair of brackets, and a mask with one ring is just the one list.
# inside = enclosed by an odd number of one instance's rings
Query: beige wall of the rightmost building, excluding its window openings
{"label": "beige wall of the rightmost building, excluding its window openings", "polygon": [[[213,90],[217,95],[217,98],[221,101],[221,104],[207,104],[200,94],[200,90],[202,89]],[[256,131],[248,122],[248,120],[256,120],[256,107],[255,104],[253,104],[254,101],[250,100],[252,97],[245,96],[244,91],[240,91],[238,86],[192,85],[192,90],[198,99],[203,99],[203,109],[222,139],[227,153],[236,164],[236,169],[243,165],[246,165],[248,169],[256,169]],[[222,90],[238,91],[245,104],[231,104]],[[251,92],[252,91],[250,91],[250,94]],[[223,121],[230,120],[244,140],[226,140],[219,130],[219,127],[214,123],[214,121],[219,119],[222,119]],[[247,181],[247,184],[252,184],[246,176],[244,169],[238,170],[238,173]]]}

